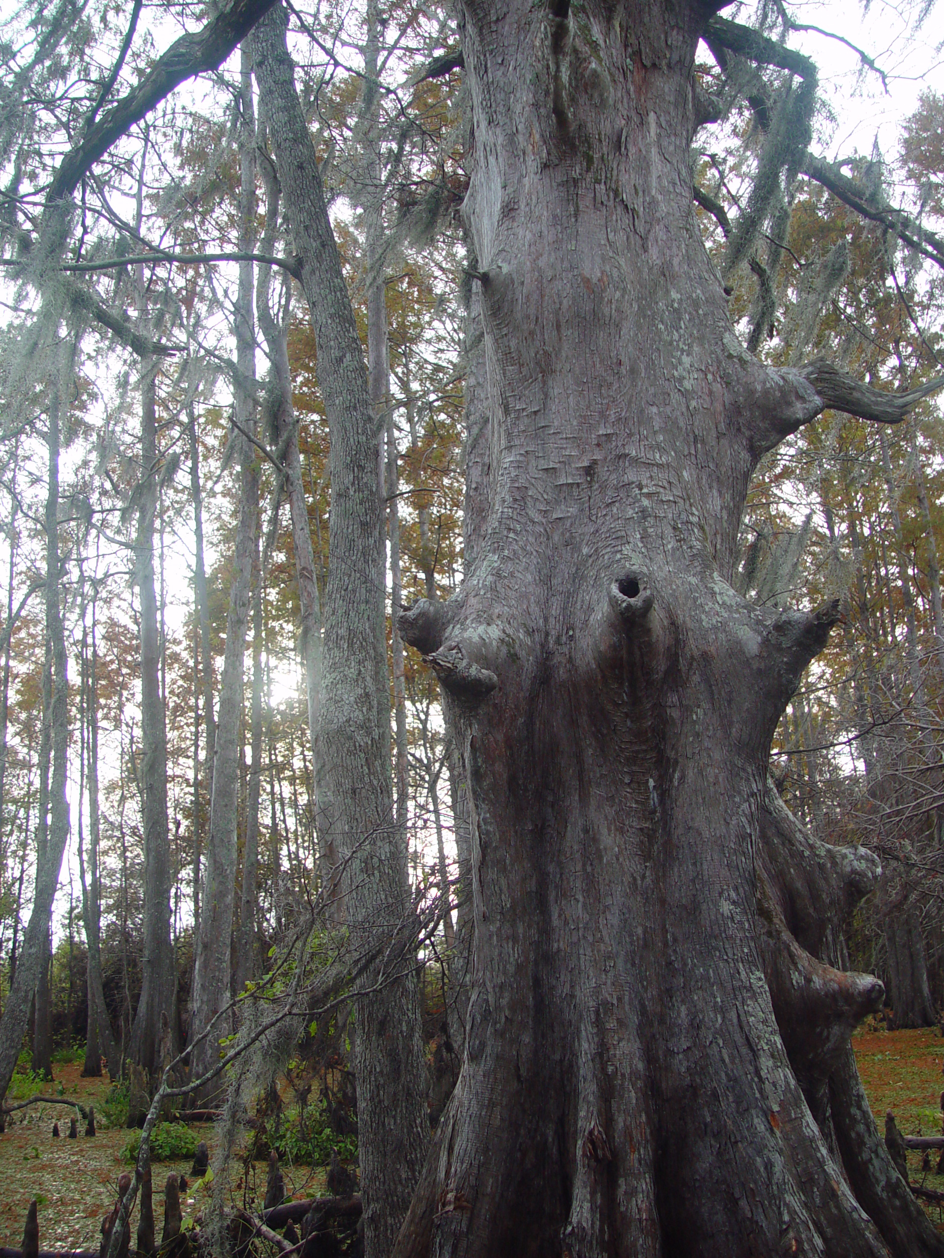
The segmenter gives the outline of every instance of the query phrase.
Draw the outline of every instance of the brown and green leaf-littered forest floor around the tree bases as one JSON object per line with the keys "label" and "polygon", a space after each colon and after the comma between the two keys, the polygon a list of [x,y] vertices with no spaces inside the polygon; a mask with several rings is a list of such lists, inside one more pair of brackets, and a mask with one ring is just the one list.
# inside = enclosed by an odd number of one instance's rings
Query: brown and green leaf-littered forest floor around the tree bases
{"label": "brown and green leaf-littered forest floor around the tree bases", "polygon": [[[944,1089],[944,1040],[936,1030],[862,1032],[853,1037],[858,1069],[879,1130],[885,1130],[885,1111],[892,1110],[905,1136],[940,1135],[940,1094]],[[31,1198],[39,1203],[40,1249],[97,1249],[101,1223],[115,1201],[118,1175],[131,1167],[126,1154],[131,1132],[123,1127],[104,1127],[101,1120],[108,1081],[83,1079],[81,1066],[57,1066],[55,1082],[44,1091],[74,1097],[84,1106],[96,1107],[98,1135],[94,1140],[79,1135],[64,1138],[69,1128],[70,1110],[65,1106],[33,1106],[21,1111],[23,1122],[9,1122],[0,1136],[0,1245],[19,1247],[23,1224]],[[19,1116],[18,1116],[19,1117]],[[63,1138],[53,1140],[53,1122],[58,1121]],[[82,1132],[83,1125],[79,1125]],[[213,1127],[194,1126],[199,1140],[213,1147]],[[936,1169],[938,1155],[931,1152]],[[167,1174],[180,1171],[191,1180],[183,1194],[184,1216],[195,1214],[201,1205],[200,1190],[190,1176],[190,1159],[181,1162],[156,1162],[154,1166],[154,1210],[157,1235],[164,1222],[162,1185]],[[325,1193],[325,1171],[321,1167],[282,1165],[286,1191],[293,1198],[317,1196]],[[921,1174],[921,1154],[909,1154],[913,1183],[944,1191],[944,1176]],[[258,1200],[266,1186],[266,1167],[252,1164],[249,1199]],[[235,1176],[234,1196],[242,1204],[244,1181]],[[925,1205],[933,1222],[944,1229],[944,1211],[938,1205]]]}

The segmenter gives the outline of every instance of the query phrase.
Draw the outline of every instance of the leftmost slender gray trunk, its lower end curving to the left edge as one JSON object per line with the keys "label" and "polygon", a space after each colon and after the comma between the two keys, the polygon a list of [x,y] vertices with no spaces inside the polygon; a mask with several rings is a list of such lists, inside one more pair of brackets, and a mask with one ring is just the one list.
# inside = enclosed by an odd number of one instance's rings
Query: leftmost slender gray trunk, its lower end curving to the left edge
{"label": "leftmost slender gray trunk, its lower end curving to the left edge", "polygon": [[40,827],[45,839],[38,843],[33,912],[16,959],[6,1008],[0,1019],[0,1101],[6,1096],[23,1034],[29,1019],[40,971],[49,956],[49,922],[59,884],[59,869],[69,835],[69,804],[65,796],[68,756],[68,677],[65,632],[59,605],[59,426],[65,413],[67,389],[72,385],[72,360],[63,366],[54,381],[49,405],[49,473],[45,502],[45,639],[52,654],[52,697],[49,704],[49,741],[52,745],[52,779],[48,791],[48,823],[45,801],[40,805]]}

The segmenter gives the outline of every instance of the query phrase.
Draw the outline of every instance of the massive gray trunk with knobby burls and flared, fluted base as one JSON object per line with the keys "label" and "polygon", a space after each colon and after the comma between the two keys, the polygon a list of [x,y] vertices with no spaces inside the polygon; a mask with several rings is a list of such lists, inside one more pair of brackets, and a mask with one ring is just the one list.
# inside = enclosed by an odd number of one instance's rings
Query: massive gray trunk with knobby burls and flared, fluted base
{"label": "massive gray trunk with knobby burls and flared, fluted base", "polygon": [[487,504],[461,593],[400,625],[463,747],[476,960],[396,1258],[944,1253],[851,1064],[881,984],[829,964],[877,862],[768,784],[837,609],[730,585],[760,455],[915,398],[733,333],[692,211],[709,16],[462,6]]}

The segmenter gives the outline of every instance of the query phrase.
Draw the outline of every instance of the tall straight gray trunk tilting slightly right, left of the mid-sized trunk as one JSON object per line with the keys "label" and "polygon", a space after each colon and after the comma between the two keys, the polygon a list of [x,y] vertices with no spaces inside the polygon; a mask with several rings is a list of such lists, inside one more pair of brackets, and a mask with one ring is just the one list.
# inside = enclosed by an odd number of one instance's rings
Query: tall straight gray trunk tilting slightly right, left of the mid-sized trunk
{"label": "tall straight gray trunk tilting slightly right, left of the mid-sized trunk", "polygon": [[[242,50],[240,92],[240,235],[239,245],[250,252],[256,240],[256,128],[253,123],[249,50]],[[213,760],[210,829],[206,839],[200,926],[194,951],[194,980],[190,998],[190,1040],[205,1030],[230,999],[233,902],[237,873],[237,823],[239,789],[239,727],[243,713],[243,655],[249,618],[253,556],[258,546],[259,470],[248,439],[256,435],[256,327],[253,321],[253,264],[239,263],[235,303],[237,382],[234,410],[239,448],[240,496],[235,536],[233,579],[227,615],[227,647],[223,657],[216,741]],[[248,434],[248,435],[243,435]],[[194,1078],[218,1057],[218,1043],[230,1030],[224,1018],[216,1030],[191,1054]]]}

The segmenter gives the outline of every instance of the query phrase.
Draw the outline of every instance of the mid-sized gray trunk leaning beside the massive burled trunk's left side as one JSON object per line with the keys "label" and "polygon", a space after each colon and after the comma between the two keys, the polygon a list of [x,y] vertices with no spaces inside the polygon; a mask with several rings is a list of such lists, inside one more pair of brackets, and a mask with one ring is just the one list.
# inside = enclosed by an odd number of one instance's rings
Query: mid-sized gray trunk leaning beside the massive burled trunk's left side
{"label": "mid-sized gray trunk leaning beside the massive burled trunk's left side", "polygon": [[[345,913],[352,937],[410,913],[407,854],[396,842],[389,765],[384,634],[384,509],[378,421],[354,312],[325,206],[315,146],[293,83],[286,14],[274,8],[252,39],[331,431],[331,557],[325,595],[318,728],[321,833],[349,857]],[[412,971],[359,980],[386,985],[357,1003],[355,1066],[366,1253],[389,1253],[428,1141],[418,994]]]}

